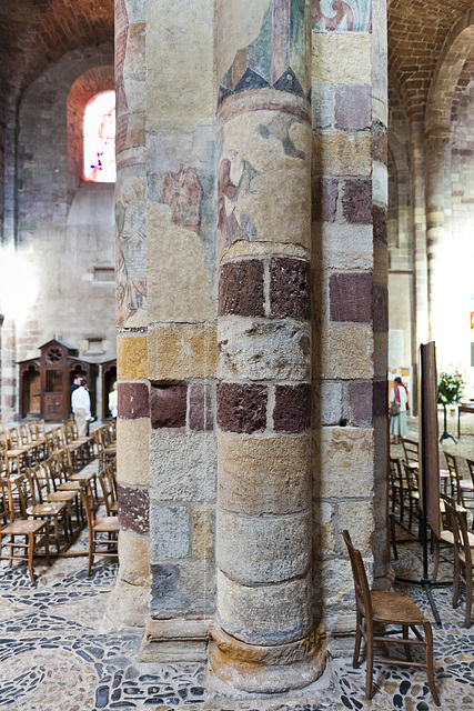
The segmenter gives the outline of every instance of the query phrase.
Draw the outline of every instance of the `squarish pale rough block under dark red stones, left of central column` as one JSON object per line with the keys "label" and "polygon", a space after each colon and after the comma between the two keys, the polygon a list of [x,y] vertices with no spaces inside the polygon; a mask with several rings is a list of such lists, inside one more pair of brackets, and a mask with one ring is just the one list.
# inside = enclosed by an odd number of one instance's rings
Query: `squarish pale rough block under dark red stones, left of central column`
{"label": "squarish pale rough block under dark red stones, left of central column", "polygon": [[152,501],[212,501],[215,498],[216,441],[212,432],[152,433]]}

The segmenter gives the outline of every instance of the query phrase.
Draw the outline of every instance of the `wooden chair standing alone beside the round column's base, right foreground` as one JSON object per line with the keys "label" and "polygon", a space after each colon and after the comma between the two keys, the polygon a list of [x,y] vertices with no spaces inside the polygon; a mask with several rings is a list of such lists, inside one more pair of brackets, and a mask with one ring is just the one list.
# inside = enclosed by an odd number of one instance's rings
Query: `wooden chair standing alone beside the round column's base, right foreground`
{"label": "wooden chair standing alone beside the round column's base, right foreground", "polygon": [[[362,638],[364,638],[366,649],[365,693],[367,699],[372,699],[374,694],[372,682],[375,659],[374,643],[399,643],[403,644],[407,661],[386,658],[377,658],[377,661],[391,665],[402,664],[426,669],[427,683],[433,701],[436,705],[440,705],[440,698],[434,684],[433,633],[430,621],[407,595],[390,591],[371,592],[361,552],[352,545],[349,531],[343,531],[342,535],[351,559],[355,588],[356,630],[352,665],[354,669],[359,667],[361,642]],[[384,632],[382,634],[374,633],[375,624],[383,625]],[[386,630],[386,625],[401,629]],[[418,627],[423,627],[424,637],[417,629]],[[410,637],[410,631],[413,632],[414,638]],[[393,637],[397,634],[401,634],[401,637]],[[425,663],[412,661],[411,647],[413,644],[420,644],[425,648]]]}

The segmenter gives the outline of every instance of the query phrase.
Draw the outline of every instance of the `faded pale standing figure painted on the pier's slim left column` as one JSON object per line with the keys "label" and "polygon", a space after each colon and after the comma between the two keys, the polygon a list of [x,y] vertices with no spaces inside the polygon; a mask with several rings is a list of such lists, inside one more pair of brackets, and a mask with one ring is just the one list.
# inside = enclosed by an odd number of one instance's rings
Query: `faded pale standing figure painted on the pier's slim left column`
{"label": "faded pale standing figure painted on the pier's slim left column", "polygon": [[145,189],[137,177],[120,186],[117,211],[117,323],[125,321],[147,303]]}

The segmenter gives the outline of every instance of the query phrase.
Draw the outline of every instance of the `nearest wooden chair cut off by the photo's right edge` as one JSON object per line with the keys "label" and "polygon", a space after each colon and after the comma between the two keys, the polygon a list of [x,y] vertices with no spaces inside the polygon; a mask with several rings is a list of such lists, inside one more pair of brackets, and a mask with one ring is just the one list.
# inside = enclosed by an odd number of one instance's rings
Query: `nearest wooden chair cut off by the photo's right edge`
{"label": "nearest wooden chair cut off by the photo's right edge", "polygon": [[457,608],[460,602],[461,583],[466,587],[466,612],[465,625],[471,627],[471,611],[473,601],[473,552],[474,541],[472,533],[467,531],[465,515],[457,507],[445,502],[446,513],[454,539],[454,585],[453,585],[453,608]]}

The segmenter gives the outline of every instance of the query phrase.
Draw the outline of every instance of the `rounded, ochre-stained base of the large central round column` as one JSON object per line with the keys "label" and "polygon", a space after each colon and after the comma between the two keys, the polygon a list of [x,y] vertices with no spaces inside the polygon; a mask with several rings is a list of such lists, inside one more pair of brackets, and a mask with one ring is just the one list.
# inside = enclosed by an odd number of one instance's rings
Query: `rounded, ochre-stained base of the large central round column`
{"label": "rounded, ochre-stained base of the large central round column", "polygon": [[290,644],[261,647],[231,637],[211,624],[209,651],[211,674],[224,684],[246,693],[283,693],[303,689],[325,669],[325,632],[315,630]]}

